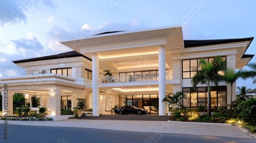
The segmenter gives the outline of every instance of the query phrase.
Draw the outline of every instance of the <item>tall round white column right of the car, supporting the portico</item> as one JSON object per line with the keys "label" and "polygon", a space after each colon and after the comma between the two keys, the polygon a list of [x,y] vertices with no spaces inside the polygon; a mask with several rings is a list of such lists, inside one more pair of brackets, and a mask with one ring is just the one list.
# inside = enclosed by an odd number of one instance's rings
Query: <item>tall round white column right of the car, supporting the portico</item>
{"label": "tall round white column right of the car, supporting the portico", "polygon": [[159,64],[159,115],[166,115],[166,103],[162,102],[166,96],[166,76],[165,76],[165,46],[158,47]]}

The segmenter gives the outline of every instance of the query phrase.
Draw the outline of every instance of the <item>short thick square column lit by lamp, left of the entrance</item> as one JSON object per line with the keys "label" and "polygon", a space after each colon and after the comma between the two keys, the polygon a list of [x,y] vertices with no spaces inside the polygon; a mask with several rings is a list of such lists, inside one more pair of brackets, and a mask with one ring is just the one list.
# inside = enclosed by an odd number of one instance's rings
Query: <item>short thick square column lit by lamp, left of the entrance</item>
{"label": "short thick square column lit by lamp, left of the entrance", "polygon": [[49,113],[50,115],[60,115],[60,94],[61,90],[48,90],[49,92]]}

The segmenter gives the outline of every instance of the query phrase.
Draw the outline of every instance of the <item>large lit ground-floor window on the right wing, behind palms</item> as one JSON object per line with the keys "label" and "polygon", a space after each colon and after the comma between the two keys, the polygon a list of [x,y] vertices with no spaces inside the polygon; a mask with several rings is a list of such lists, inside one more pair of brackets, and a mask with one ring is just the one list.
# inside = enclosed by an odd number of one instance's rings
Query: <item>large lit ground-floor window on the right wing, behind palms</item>
{"label": "large lit ground-floor window on the right wing, behind palms", "polygon": [[[211,107],[225,107],[227,104],[226,88],[226,86],[211,87]],[[184,107],[208,106],[207,87],[197,87],[195,92],[191,92],[190,87],[184,87],[182,90],[187,98],[183,99]]]}

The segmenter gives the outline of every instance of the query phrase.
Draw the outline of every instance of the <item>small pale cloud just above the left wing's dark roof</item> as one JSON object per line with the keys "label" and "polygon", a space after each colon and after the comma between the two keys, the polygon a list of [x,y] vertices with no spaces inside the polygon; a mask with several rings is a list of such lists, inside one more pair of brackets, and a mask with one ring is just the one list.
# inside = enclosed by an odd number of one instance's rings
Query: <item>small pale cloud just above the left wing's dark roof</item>
{"label": "small pale cloud just above the left wing's dark roof", "polygon": [[36,37],[30,39],[21,38],[19,40],[11,40],[17,50],[44,50],[44,46],[38,41]]}

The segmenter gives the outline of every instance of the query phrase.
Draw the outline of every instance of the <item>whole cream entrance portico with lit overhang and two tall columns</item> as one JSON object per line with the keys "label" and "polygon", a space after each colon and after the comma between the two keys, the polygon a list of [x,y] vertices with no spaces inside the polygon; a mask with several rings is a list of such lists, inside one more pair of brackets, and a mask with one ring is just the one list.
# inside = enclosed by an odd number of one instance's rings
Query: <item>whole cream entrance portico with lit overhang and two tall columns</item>
{"label": "whole cream entrance portico with lit overhang and two tall columns", "polygon": [[[112,91],[126,94],[136,87],[136,83],[99,83],[100,71],[111,69],[113,75],[123,72],[159,70],[159,79],[156,81],[142,81],[140,89],[134,93],[145,92],[143,88],[153,88],[159,94],[159,115],[166,114],[165,103],[162,99],[166,94],[166,86],[172,92],[172,83],[180,81],[166,80],[166,69],[172,73],[172,52],[184,49],[181,27],[162,27],[146,30],[124,31],[109,34],[99,34],[86,39],[60,42],[82,55],[92,59],[93,73],[93,115],[98,116],[99,92]],[[74,44],[76,43],[76,44]],[[153,83],[157,82],[157,83]],[[109,86],[107,88],[106,86]],[[105,88],[103,88],[105,87]],[[86,86],[86,88],[90,88]],[[102,89],[102,90],[99,90]],[[124,91],[125,90],[125,91]],[[95,110],[95,111],[94,111]]]}

